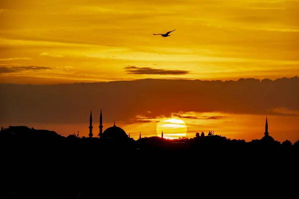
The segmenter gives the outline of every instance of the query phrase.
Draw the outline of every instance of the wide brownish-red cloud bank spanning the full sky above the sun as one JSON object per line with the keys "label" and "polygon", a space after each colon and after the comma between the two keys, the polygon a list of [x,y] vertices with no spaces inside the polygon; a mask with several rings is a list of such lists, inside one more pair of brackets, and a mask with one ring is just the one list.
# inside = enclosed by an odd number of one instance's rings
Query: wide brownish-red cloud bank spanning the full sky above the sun
{"label": "wide brownish-red cloud bank spanning the full sky above the sun", "polygon": [[[204,114],[180,115],[202,119],[221,118],[217,113],[207,115],[206,112],[269,116],[281,114],[278,112],[298,112],[298,90],[297,76],[274,81],[143,79],[42,86],[0,84],[0,121],[84,123],[90,110],[95,113],[94,120],[98,121],[100,109],[103,110],[103,121],[111,123],[132,119],[155,121],[160,116],[170,117],[173,113],[190,111]],[[151,113],[147,113],[148,110]]]}

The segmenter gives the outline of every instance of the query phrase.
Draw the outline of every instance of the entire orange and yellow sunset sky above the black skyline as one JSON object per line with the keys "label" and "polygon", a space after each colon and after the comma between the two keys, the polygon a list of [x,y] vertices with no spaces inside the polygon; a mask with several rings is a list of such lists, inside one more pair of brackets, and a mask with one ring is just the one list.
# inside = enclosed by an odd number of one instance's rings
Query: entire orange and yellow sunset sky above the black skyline
{"label": "entire orange and yellow sunset sky above the black skyline", "polygon": [[2,0],[0,125],[87,136],[102,108],[104,129],[116,120],[134,138],[175,117],[188,137],[250,141],[268,116],[270,135],[294,143],[298,19],[299,0]]}

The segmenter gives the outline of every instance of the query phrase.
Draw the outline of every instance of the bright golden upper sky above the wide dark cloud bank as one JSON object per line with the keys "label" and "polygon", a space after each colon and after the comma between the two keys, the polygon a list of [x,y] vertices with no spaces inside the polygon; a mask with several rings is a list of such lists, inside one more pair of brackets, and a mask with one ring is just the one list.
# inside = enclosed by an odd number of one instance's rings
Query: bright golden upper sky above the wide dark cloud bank
{"label": "bright golden upper sky above the wide dark cloud bank", "polygon": [[168,78],[294,77],[298,9],[298,0],[4,0],[0,64],[14,68],[1,83],[165,77],[126,66],[188,72]]}

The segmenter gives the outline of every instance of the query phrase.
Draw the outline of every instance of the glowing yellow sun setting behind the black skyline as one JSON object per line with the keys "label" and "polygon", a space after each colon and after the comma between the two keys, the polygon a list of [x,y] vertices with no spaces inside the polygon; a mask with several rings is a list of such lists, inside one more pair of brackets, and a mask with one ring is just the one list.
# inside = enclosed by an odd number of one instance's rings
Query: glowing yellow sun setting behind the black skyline
{"label": "glowing yellow sun setting behind the black skyline", "polygon": [[178,118],[165,118],[159,121],[156,127],[157,136],[161,137],[163,131],[163,138],[177,139],[184,137],[187,134],[186,123]]}

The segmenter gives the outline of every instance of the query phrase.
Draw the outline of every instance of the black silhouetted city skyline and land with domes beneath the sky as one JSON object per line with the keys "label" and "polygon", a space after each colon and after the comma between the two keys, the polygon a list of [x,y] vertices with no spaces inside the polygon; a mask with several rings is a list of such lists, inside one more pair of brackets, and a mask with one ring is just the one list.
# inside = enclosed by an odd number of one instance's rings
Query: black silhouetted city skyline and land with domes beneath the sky
{"label": "black silhouetted city skyline and land with domes beneath the sky", "polygon": [[[161,137],[142,137],[140,133],[140,138],[134,140],[130,138],[130,134],[126,134],[115,124],[107,128],[102,133],[102,137],[93,137],[93,133],[89,133],[90,137],[80,137],[79,134],[63,137],[54,131],[36,130],[26,126],[9,126],[0,131],[1,151],[5,151],[2,156],[5,163],[3,169],[8,174],[4,175],[6,184],[3,186],[7,192],[0,194],[9,199],[27,197],[93,199],[100,198],[106,193],[111,195],[111,191],[119,189],[119,186],[127,187],[128,182],[126,181],[132,178],[138,179],[139,182],[136,186],[139,183],[146,185],[153,179],[160,179],[165,183],[165,187],[171,187],[171,183],[187,178],[190,182],[181,185],[181,188],[185,188],[186,185],[198,185],[191,182],[193,178],[199,177],[205,182],[211,181],[211,183],[214,179],[219,179],[218,182],[226,178],[238,179],[230,184],[236,186],[236,183],[248,183],[248,177],[239,176],[239,172],[243,168],[234,167],[245,164],[247,168],[250,167],[248,172],[251,173],[252,180],[259,179],[259,176],[263,175],[262,179],[264,183],[267,183],[267,190],[261,191],[260,189],[265,189],[262,188],[264,185],[259,185],[256,182],[254,188],[248,186],[239,189],[238,187],[239,190],[236,190],[235,193],[210,193],[209,195],[237,197],[239,194],[249,191],[247,196],[259,193],[260,196],[266,198],[292,198],[298,184],[291,183],[292,181],[289,179],[298,174],[296,157],[299,155],[299,140],[294,144],[289,140],[283,143],[275,141],[268,132],[268,118],[266,118],[264,130],[262,139],[245,142],[243,139],[236,140],[219,136],[214,134],[214,131],[209,131],[208,134],[197,132],[193,138],[179,139],[165,139],[162,133]],[[23,161],[26,163],[24,164]],[[184,170],[198,163],[204,164],[208,173],[196,172],[192,177],[173,173],[175,168]],[[154,168],[157,164],[166,170]],[[36,167],[36,165],[39,166]],[[57,167],[57,165],[60,166]],[[221,167],[219,167],[220,165]],[[135,168],[136,166],[138,167]],[[174,166],[175,168],[173,168]],[[90,172],[90,169],[95,167],[100,167],[100,171],[105,172],[95,171],[92,172],[92,175],[86,174],[87,171]],[[263,169],[268,167],[271,167],[269,171]],[[61,168],[64,169],[61,170]],[[80,169],[78,170],[78,168]],[[132,169],[137,173],[128,172]],[[198,169],[203,168],[199,167]],[[144,170],[149,173],[143,173],[141,177],[140,172]],[[275,174],[271,172],[272,170],[276,171]],[[215,171],[217,172],[215,173]],[[272,178],[275,178],[276,175],[285,180],[274,183]],[[23,190],[28,178],[31,179],[29,187],[34,186],[37,190],[26,187],[25,191],[20,191]],[[94,178],[101,178],[102,181],[92,186],[86,184]],[[60,181],[57,182],[55,179],[60,179]],[[111,187],[108,182],[112,179],[118,179],[120,184],[116,185],[114,182],[114,186]],[[55,184],[51,184],[53,181]],[[43,186],[40,187],[40,185]],[[22,188],[19,188],[20,186]],[[73,188],[61,189],[64,186]],[[93,186],[95,187],[93,188]],[[97,191],[97,186],[103,190]],[[147,191],[145,187],[138,187],[140,189],[138,193]],[[213,188],[222,189],[226,186],[219,186],[214,182]],[[286,189],[289,192],[286,192]],[[201,194],[206,191],[202,191]],[[161,193],[158,190],[157,192]],[[156,192],[152,191],[152,194],[154,193]],[[186,197],[195,193],[195,190],[191,190],[184,195]],[[129,195],[135,196],[136,193]],[[172,196],[173,193],[170,192],[167,195]],[[201,195],[199,194],[199,196]]]}

